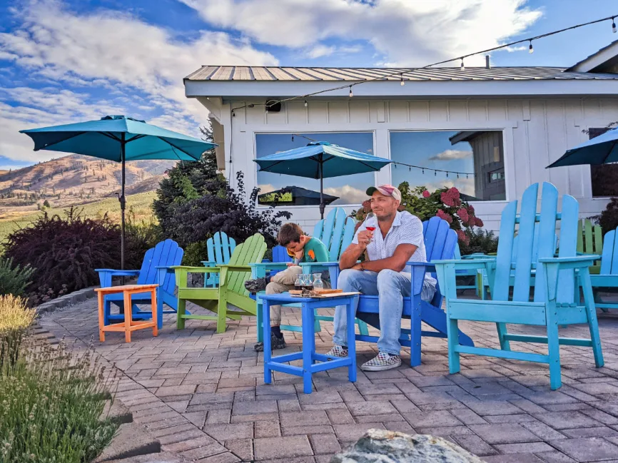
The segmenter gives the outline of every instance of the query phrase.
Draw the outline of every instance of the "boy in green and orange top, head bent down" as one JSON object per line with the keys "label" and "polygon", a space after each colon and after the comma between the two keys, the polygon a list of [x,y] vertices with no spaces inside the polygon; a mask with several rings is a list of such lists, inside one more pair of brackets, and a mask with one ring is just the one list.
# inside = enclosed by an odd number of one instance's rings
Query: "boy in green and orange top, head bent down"
{"label": "boy in green and orange top, head bent down", "polygon": [[[303,233],[303,229],[296,223],[285,223],[278,234],[279,244],[288,250],[288,255],[295,259],[295,262],[318,263],[328,262],[330,255],[328,249],[318,238],[311,238]],[[288,268],[282,270],[272,278],[257,278],[247,280],[245,288],[249,292],[266,290],[266,294],[280,294],[294,289],[294,282],[298,275],[303,273],[300,265],[288,263]],[[324,287],[330,288],[328,271],[323,275]],[[270,307],[270,345],[273,349],[285,349],[285,340],[280,329],[281,325],[281,306],[273,305]],[[255,345],[255,350],[264,350],[263,342]]]}

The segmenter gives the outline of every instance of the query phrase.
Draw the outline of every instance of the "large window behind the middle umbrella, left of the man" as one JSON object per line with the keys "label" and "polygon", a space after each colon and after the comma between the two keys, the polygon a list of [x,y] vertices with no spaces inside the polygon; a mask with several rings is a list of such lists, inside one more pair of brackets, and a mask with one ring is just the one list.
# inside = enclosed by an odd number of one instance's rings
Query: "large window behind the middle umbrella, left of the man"
{"label": "large window behind the middle umbrella, left of the man", "polygon": [[[262,158],[269,154],[306,146],[312,140],[328,141],[339,146],[345,146],[345,148],[373,154],[373,133],[371,132],[299,133],[295,135],[291,133],[258,133],[255,135],[255,150],[258,158]],[[325,178],[325,203],[335,205],[360,204],[367,199],[365,190],[374,183],[375,173],[373,172]],[[260,188],[260,195],[258,196],[260,205],[270,205],[275,201],[280,205],[320,204],[320,180],[315,178],[258,171],[258,187]],[[280,192],[282,189],[283,192]]]}

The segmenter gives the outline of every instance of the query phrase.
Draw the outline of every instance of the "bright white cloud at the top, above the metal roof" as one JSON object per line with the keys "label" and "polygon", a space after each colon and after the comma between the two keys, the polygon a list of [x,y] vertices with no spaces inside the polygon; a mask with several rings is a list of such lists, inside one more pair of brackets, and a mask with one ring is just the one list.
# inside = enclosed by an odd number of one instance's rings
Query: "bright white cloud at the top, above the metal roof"
{"label": "bright white cloud at the top, above the metal roof", "polygon": [[[365,40],[393,66],[422,66],[497,46],[541,16],[526,0],[181,1],[211,24],[263,44],[306,48],[326,39]],[[273,27],[273,11],[289,20]]]}

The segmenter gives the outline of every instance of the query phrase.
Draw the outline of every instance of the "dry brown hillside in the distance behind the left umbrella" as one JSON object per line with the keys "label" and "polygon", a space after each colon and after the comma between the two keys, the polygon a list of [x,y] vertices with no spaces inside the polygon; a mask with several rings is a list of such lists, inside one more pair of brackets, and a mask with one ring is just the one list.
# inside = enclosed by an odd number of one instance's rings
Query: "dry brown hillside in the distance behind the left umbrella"
{"label": "dry brown hillside in the distance behind the left umbrella", "polygon": [[[127,194],[156,190],[175,161],[126,163]],[[15,220],[39,210],[93,203],[121,188],[121,164],[71,155],[4,173],[0,171],[0,220]]]}

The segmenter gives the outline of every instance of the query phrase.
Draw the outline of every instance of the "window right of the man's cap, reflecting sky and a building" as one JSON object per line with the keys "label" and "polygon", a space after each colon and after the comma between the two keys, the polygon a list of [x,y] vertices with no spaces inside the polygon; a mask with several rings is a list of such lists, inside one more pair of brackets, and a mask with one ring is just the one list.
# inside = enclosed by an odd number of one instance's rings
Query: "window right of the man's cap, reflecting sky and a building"
{"label": "window right of the man's cap, reflecting sky and a building", "polygon": [[[502,131],[390,133],[392,184],[457,187],[470,201],[506,200]],[[416,166],[416,167],[412,167]]]}

